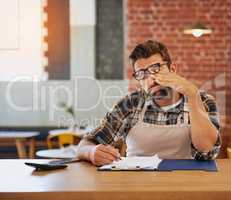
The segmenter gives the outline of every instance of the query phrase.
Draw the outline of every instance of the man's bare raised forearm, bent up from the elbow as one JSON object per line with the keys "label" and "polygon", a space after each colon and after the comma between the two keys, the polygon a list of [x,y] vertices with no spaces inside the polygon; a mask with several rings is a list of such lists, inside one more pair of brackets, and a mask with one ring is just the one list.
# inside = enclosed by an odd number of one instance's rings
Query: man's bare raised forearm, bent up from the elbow
{"label": "man's bare raised forearm, bent up from the elbow", "polygon": [[209,120],[198,93],[191,96],[188,103],[192,143],[199,151],[209,151],[217,140],[217,129]]}

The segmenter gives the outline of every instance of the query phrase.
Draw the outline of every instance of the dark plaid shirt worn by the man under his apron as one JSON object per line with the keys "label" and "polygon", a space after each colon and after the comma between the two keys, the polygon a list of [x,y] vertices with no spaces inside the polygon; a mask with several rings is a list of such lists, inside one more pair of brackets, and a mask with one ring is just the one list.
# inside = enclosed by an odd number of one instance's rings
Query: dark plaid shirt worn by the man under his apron
{"label": "dark plaid shirt worn by the man under his apron", "polygon": [[[191,143],[191,155],[193,159],[208,160],[215,159],[221,147],[219,114],[214,98],[205,92],[200,92],[201,100],[208,113],[210,121],[217,128],[217,141],[209,152],[198,151]],[[85,138],[98,144],[110,144],[116,146],[116,142],[125,139],[129,130],[138,122],[142,109],[145,106],[143,121],[150,124],[173,125],[190,124],[187,97],[182,95],[181,102],[173,108],[164,111],[158,107],[150,98],[145,98],[144,92],[135,91],[120,100],[111,111],[109,111],[101,125],[89,132]]]}

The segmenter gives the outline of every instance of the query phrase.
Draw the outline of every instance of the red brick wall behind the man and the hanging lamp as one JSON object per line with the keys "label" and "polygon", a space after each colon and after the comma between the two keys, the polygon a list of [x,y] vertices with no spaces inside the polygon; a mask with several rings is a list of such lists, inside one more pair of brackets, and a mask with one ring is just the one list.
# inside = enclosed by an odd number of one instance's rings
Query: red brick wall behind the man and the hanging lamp
{"label": "red brick wall behind the man and the hanging lamp", "polygon": [[[165,43],[178,72],[216,97],[224,150],[231,134],[231,0],[127,0],[126,7],[126,58],[139,42]],[[184,35],[183,29],[197,21],[213,33],[200,38]],[[131,79],[132,68],[128,62],[126,66]]]}

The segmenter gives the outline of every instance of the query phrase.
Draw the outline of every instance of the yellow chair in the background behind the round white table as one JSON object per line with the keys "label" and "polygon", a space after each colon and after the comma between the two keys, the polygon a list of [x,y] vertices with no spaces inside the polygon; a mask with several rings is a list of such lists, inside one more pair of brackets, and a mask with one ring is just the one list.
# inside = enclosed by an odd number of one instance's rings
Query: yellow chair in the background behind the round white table
{"label": "yellow chair in the background behind the round white table", "polygon": [[60,132],[56,134],[50,134],[47,136],[47,146],[48,149],[53,148],[53,141],[58,140],[58,145],[60,148],[68,145],[76,145],[80,142],[81,138],[72,132]]}

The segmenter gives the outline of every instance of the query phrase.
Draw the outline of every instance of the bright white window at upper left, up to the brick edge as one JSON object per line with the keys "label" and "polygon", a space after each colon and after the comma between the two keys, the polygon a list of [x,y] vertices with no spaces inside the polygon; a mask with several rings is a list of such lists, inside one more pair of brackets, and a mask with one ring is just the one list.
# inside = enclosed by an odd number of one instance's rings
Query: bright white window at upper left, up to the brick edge
{"label": "bright white window at upper left, up to the brick edge", "polygon": [[0,6],[0,80],[44,76],[41,1],[9,0]]}

